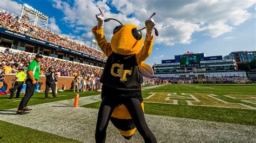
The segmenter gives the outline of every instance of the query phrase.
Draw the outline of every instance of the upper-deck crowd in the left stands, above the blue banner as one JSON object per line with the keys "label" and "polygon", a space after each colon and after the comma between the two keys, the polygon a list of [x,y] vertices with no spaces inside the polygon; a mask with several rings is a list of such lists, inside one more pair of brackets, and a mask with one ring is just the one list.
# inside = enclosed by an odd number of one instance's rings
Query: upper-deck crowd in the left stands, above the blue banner
{"label": "upper-deck crowd in the left stands, above the blue banner", "polygon": [[92,55],[99,59],[106,60],[107,58],[103,52],[86,45],[79,44],[76,41],[70,40],[69,38],[56,34],[50,30],[45,30],[45,28],[36,26],[25,18],[21,19],[18,16],[14,16],[12,13],[3,10],[0,10],[0,26],[18,33],[29,35],[33,38],[41,39],[52,44],[72,49],[73,51]]}

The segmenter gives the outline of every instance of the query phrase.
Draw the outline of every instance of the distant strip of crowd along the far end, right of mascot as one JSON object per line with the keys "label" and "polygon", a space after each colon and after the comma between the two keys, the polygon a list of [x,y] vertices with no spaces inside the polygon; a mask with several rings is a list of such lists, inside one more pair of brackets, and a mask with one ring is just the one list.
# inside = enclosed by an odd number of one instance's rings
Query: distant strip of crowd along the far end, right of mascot
{"label": "distant strip of crowd along the far end, right of mascot", "polygon": [[171,84],[171,83],[252,83],[247,77],[156,77],[156,78],[144,78],[144,85],[159,85],[159,84]]}

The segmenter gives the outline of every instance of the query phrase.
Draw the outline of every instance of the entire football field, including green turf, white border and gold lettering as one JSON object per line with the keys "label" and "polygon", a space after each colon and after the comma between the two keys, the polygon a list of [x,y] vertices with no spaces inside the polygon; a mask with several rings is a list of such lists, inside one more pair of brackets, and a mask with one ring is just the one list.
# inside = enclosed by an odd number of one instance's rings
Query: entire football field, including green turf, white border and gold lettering
{"label": "entire football field, including green turf, white border and gold lettering", "polygon": [[[1,142],[92,142],[100,92],[80,93],[73,108],[72,91],[57,99],[35,94],[31,112],[15,115],[19,99],[0,97]],[[256,141],[256,85],[169,84],[143,88],[145,117],[159,142]],[[25,134],[25,135],[24,135]],[[107,142],[126,141],[110,123]],[[132,142],[143,142],[138,132]]]}

